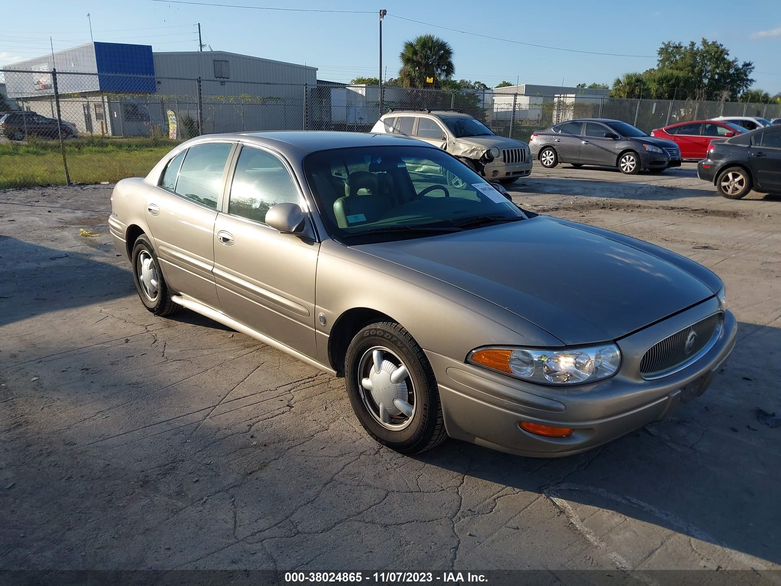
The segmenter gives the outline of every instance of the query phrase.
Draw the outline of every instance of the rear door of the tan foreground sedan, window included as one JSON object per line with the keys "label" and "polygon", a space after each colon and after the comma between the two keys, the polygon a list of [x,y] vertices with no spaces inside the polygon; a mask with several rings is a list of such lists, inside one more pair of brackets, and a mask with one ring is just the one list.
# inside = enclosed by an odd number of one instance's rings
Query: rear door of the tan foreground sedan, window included
{"label": "rear door of the tan foreground sedan, window included", "polygon": [[173,157],[146,202],[146,219],[162,272],[173,291],[219,309],[214,223],[236,143],[195,145]]}

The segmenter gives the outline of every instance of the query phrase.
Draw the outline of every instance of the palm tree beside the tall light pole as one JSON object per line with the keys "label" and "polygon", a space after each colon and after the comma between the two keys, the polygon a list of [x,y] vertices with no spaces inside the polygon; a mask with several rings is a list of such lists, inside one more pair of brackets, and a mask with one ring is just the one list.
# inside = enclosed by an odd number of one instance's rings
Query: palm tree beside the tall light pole
{"label": "palm tree beside the tall light pole", "polygon": [[453,49],[433,34],[422,34],[413,41],[405,41],[398,55],[401,69],[398,80],[403,88],[423,88],[426,77],[432,77],[434,87],[439,88],[442,80],[455,73]]}

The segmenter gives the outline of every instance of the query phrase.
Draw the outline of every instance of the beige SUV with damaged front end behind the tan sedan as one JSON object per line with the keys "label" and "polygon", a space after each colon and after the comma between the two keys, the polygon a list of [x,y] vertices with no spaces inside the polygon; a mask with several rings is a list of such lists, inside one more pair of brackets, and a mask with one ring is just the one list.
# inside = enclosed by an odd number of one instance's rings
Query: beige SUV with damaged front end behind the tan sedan
{"label": "beige SUV with damaged front end behind the tan sedan", "polygon": [[372,132],[400,134],[439,147],[482,171],[490,181],[511,184],[532,172],[529,145],[494,134],[485,124],[450,110],[391,110],[383,114]]}

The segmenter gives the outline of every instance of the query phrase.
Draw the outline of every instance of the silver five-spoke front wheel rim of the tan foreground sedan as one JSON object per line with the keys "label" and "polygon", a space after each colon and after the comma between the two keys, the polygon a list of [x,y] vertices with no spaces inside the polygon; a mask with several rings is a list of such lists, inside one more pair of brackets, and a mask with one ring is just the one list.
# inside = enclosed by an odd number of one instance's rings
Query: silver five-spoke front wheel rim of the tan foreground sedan
{"label": "silver five-spoke front wheel rim of the tan foreground sedan", "polygon": [[415,416],[416,392],[405,363],[391,350],[374,346],[358,363],[363,404],[383,427],[401,431]]}

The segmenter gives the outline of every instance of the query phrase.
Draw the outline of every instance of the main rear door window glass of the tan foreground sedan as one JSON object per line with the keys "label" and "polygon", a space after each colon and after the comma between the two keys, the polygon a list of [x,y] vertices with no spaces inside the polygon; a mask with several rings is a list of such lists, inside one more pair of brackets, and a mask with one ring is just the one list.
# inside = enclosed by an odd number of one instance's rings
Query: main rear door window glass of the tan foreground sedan
{"label": "main rear door window glass of the tan foreground sedan", "polygon": [[174,191],[193,202],[217,209],[217,196],[223,185],[223,170],[232,147],[233,145],[227,142],[190,147],[184,157]]}

